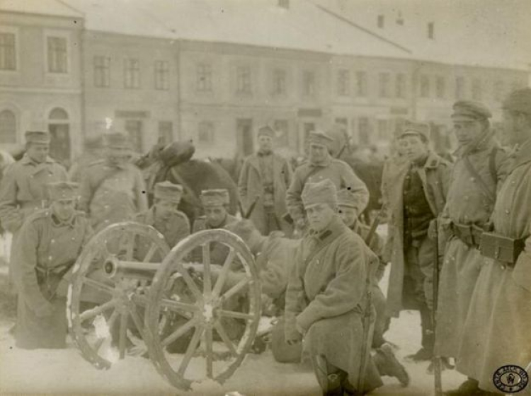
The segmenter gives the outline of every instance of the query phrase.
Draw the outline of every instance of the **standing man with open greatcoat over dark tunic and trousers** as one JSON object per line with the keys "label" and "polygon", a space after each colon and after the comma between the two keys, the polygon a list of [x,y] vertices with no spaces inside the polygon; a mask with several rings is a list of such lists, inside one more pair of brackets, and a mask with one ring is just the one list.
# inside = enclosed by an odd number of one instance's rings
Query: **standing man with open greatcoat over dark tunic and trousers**
{"label": "standing man with open greatcoat over dark tunic and trousers", "polygon": [[398,317],[403,309],[421,312],[422,347],[409,356],[413,361],[433,357],[433,255],[435,241],[428,228],[445,206],[450,164],[430,151],[427,124],[407,122],[398,144],[409,165],[397,177],[401,194],[391,202],[389,241],[391,274],[387,314]]}

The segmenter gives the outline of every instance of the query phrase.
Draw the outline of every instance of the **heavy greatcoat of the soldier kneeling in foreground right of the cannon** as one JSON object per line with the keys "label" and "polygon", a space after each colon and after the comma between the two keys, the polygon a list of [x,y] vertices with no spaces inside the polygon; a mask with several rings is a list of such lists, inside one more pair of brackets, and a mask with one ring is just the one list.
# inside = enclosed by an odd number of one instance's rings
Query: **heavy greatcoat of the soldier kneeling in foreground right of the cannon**
{"label": "heavy greatcoat of the soldier kneeling in foreground right of the cannon", "polygon": [[[305,236],[296,254],[286,294],[286,339],[294,338],[299,325],[307,332],[309,353],[348,373],[355,386],[364,343],[367,270],[377,257],[338,217],[319,235]],[[366,390],[382,385],[371,359],[366,374]]]}

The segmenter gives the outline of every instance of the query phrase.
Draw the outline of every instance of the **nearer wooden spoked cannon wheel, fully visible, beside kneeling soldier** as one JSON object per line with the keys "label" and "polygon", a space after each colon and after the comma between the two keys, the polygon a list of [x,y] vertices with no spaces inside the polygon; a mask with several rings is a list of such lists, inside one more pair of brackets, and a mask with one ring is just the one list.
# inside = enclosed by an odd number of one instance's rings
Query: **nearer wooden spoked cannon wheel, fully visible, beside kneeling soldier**
{"label": "nearer wooden spoked cannon wheel, fully visible, beside kneeling soldier", "polygon": [[223,383],[251,349],[260,296],[256,264],[238,236],[217,229],[182,240],[149,289],[146,340],[156,369],[181,389],[207,378]]}

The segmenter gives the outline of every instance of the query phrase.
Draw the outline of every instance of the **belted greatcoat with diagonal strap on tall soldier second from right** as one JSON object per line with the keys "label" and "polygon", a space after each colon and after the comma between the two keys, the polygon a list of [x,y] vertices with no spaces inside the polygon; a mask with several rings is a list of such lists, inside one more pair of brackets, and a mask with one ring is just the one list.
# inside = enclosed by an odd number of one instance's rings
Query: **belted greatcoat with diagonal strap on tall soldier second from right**
{"label": "belted greatcoat with diagonal strap on tall soldier second from right", "polygon": [[[493,194],[507,173],[506,152],[488,139],[467,154],[470,163]],[[451,233],[450,223],[474,225],[481,230],[489,221],[493,200],[479,185],[459,156],[452,170],[450,190],[441,218],[441,233],[449,237],[440,271],[435,349],[440,356],[457,356],[464,320],[476,285],[483,258],[476,247],[469,246]],[[443,247],[441,246],[441,249]]]}

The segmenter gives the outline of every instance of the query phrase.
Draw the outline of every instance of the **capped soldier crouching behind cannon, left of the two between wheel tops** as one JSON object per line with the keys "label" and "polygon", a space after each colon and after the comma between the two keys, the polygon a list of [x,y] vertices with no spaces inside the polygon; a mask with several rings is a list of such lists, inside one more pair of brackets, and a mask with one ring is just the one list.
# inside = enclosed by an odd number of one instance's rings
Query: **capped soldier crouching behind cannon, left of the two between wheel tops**
{"label": "capped soldier crouching behind cannon, left of the two between wheel tops", "polygon": [[156,183],[154,205],[151,209],[135,216],[135,221],[153,226],[164,235],[170,248],[190,235],[190,221],[182,211],[178,210],[182,195],[183,187],[181,185],[174,185],[171,182]]}

